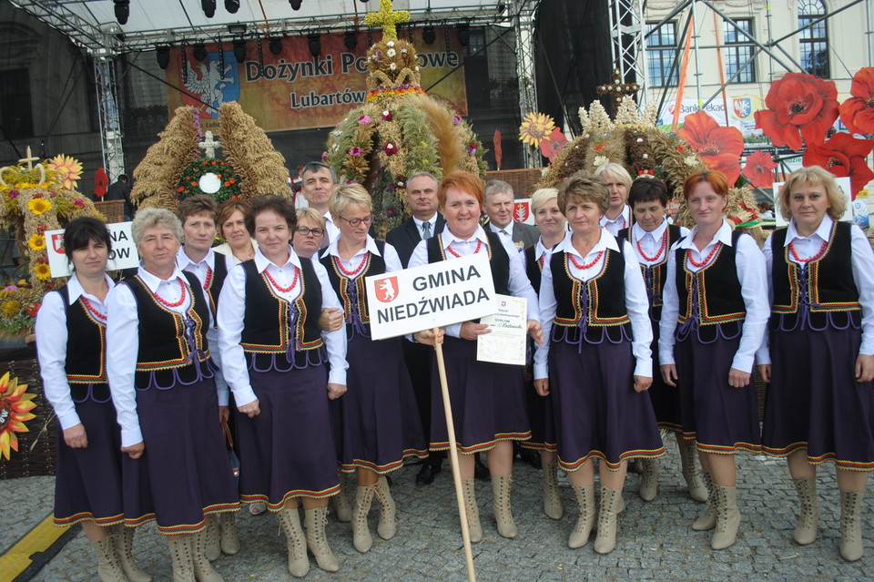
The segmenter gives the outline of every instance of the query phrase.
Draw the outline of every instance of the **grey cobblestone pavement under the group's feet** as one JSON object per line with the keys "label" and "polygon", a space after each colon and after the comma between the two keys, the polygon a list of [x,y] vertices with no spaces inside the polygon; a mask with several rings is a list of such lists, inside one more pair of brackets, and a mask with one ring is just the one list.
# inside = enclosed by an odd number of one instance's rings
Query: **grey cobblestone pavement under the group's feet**
{"label": "grey cobblestone pavement under the group's feet", "polygon": [[[455,510],[452,477],[445,468],[434,483],[417,487],[418,467],[392,474],[398,505],[398,534],[391,541],[376,535],[377,504],[371,509],[373,547],[359,554],[352,546],[349,524],[329,517],[330,545],[340,559],[340,571],[329,574],[311,562],[310,581],[464,582],[467,580]],[[574,495],[564,478],[561,493],[565,516],[553,521],[541,505],[540,472],[516,462],[513,514],[519,535],[503,539],[494,528],[487,482],[478,482],[477,499],[483,541],[473,545],[478,580],[863,580],[874,579],[874,519],[872,503],[862,509],[866,555],[855,563],[838,555],[838,492],[833,465],[819,471],[822,517],[819,536],[810,546],[792,541],[797,516],[795,492],[786,465],[776,459],[738,455],[738,506],[742,522],[737,544],[720,552],[709,546],[708,532],[690,525],[703,505],[686,495],[676,448],[659,461],[659,495],[644,503],[636,494],[638,475],[625,484],[628,508],[619,517],[617,546],[600,556],[587,546],[572,550],[567,536],[576,520]],[[53,477],[0,481],[0,548],[11,546],[52,510]],[[302,521],[302,520],[301,520]],[[238,514],[241,549],[214,563],[227,582],[290,580],[284,537],[273,516]],[[153,525],[139,528],[135,554],[156,582],[172,579],[167,546]],[[46,567],[35,582],[85,582],[96,579],[94,558],[79,533]]]}

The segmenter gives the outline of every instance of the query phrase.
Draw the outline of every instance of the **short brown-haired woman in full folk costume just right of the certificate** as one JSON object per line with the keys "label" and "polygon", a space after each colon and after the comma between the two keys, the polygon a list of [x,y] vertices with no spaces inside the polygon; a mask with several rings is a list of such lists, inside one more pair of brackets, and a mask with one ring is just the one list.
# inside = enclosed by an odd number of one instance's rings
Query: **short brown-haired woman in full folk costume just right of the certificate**
{"label": "short brown-haired woman in full folk costume just right of the certificate", "polygon": [[595,526],[595,462],[601,507],[595,551],[612,552],[628,459],[665,454],[645,390],[652,357],[644,280],[631,245],[601,227],[602,179],[577,172],[558,206],[572,233],[545,260],[540,311],[549,342],[534,354],[534,387],[552,394],[559,466],[568,472],[580,515],[568,546],[584,546]]}

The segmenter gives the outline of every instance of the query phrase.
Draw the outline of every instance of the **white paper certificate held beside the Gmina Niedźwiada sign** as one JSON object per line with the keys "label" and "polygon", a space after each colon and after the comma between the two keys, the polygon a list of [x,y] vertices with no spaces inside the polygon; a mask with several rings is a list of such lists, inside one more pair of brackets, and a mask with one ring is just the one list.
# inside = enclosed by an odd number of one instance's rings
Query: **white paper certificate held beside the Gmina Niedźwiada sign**
{"label": "white paper certificate held beside the Gmina Nied\u017awiada sign", "polygon": [[495,295],[498,311],[480,319],[492,329],[476,339],[476,359],[480,362],[525,365],[528,300],[524,297]]}

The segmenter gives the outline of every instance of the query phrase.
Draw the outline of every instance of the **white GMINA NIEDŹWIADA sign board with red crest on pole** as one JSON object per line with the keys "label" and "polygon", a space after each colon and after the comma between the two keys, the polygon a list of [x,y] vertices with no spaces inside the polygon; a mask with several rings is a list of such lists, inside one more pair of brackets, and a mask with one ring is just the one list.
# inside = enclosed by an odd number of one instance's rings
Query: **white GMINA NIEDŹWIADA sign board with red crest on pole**
{"label": "white GMINA NIED\u0179WIADA sign board with red crest on pole", "polygon": [[497,311],[485,253],[365,279],[374,340],[469,322]]}

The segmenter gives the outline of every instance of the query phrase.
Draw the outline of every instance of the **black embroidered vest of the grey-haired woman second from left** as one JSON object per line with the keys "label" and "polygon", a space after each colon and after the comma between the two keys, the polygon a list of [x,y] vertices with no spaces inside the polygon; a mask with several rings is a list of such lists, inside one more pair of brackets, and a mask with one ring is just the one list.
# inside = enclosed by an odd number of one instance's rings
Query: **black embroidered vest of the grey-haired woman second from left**
{"label": "black embroidered vest of the grey-haired woman second from left", "polygon": [[[195,363],[201,373],[207,373],[209,370],[209,346],[206,336],[209,306],[206,301],[203,301],[203,295],[196,291],[200,284],[198,278],[186,271],[182,271],[182,275],[188,284],[185,291],[191,295],[191,304],[184,315],[161,305],[138,275],[122,281],[130,288],[137,300],[139,352],[137,352],[137,374],[134,383],[138,388],[145,388],[150,384],[152,373],[155,373],[155,383],[159,386],[168,386],[172,384],[171,371],[173,370],[177,371],[179,378],[184,382],[193,381],[198,377],[198,371],[193,365]],[[192,362],[192,350],[185,334],[187,319],[190,319],[195,349],[198,350],[198,354],[194,357],[196,362]]]}

